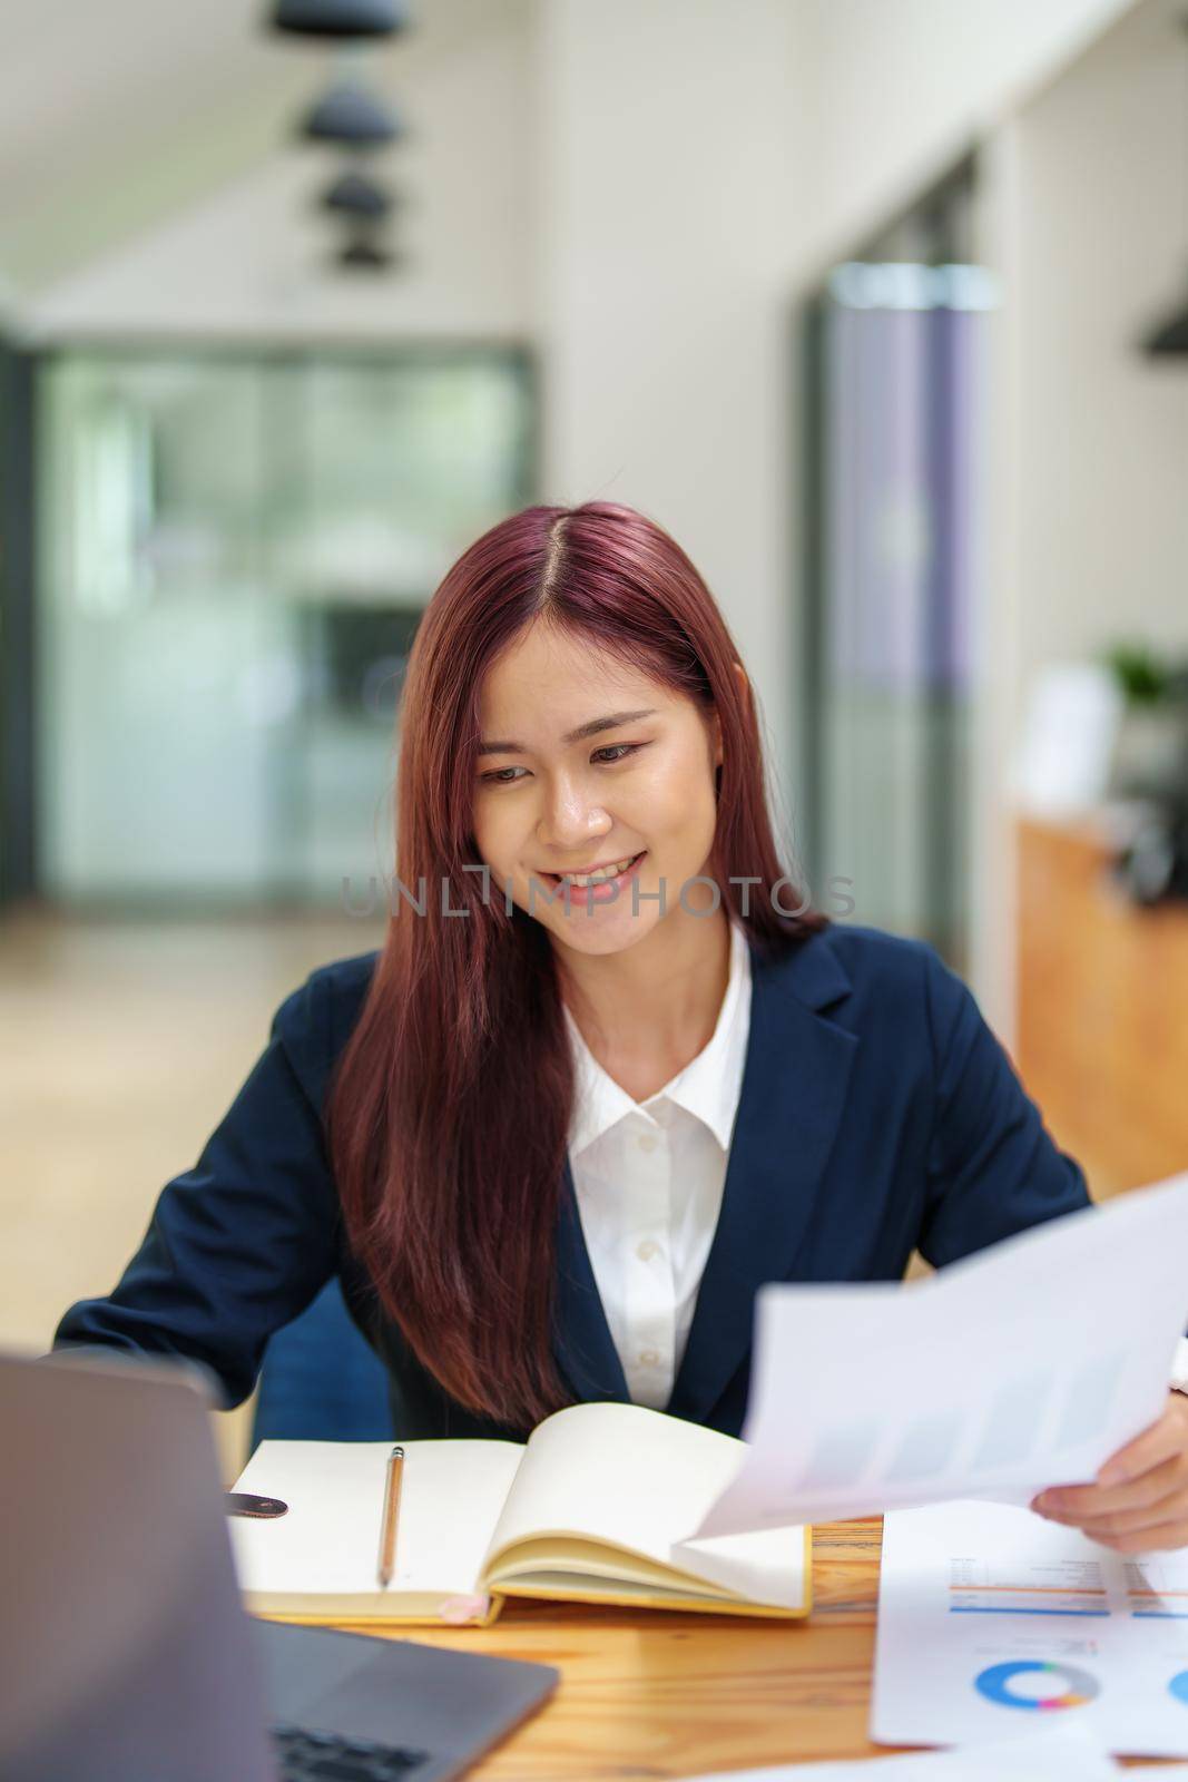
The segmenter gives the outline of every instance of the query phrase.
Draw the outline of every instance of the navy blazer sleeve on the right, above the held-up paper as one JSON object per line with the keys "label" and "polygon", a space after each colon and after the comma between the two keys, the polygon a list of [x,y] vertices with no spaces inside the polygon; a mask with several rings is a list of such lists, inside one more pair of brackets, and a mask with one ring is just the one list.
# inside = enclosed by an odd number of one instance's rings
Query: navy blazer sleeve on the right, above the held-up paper
{"label": "navy blazer sleeve on the right, above the held-up paper", "polygon": [[1090,1205],[971,991],[924,948],[933,1126],[917,1247],[933,1267]]}

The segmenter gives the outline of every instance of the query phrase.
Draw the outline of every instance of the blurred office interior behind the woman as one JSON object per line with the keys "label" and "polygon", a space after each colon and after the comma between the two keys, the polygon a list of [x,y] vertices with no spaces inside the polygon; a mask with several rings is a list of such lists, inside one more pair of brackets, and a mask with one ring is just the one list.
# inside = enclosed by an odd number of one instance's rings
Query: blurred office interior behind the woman
{"label": "blurred office interior behind the woman", "polygon": [[686,545],[789,857],[1094,1190],[1188,1167],[1181,0],[395,11],[0,0],[0,1340],[379,943],[419,613],[534,499]]}

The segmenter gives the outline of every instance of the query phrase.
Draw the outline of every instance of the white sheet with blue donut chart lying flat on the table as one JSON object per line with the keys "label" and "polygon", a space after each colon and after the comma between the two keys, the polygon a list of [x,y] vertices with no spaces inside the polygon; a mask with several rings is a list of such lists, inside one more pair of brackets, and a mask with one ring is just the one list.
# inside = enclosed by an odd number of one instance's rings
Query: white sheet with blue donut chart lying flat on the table
{"label": "white sheet with blue donut chart lying flat on the table", "polygon": [[1012,1504],[889,1515],[871,1737],[972,1745],[1049,1714],[1188,1757],[1188,1550],[1126,1557]]}

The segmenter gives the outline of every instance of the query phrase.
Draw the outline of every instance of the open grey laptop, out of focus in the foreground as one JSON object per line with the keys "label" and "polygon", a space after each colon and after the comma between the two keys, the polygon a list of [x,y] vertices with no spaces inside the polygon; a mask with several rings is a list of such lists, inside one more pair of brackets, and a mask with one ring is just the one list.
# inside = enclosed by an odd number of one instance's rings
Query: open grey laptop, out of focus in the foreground
{"label": "open grey laptop, out of focus in the foreground", "polygon": [[443,1782],[547,1664],[260,1622],[198,1374],[0,1356],[4,1782]]}

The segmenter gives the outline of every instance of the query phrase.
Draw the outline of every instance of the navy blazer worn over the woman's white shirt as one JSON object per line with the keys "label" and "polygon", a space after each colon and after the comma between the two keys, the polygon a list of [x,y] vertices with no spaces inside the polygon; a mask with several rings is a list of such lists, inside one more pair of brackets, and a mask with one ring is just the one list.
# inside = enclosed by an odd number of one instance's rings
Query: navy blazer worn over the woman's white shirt
{"label": "navy blazer worn over the woman's white shirt", "polygon": [[[921,941],[834,925],[791,957],[752,955],[752,1018],[721,1215],[668,1411],[737,1435],[764,1281],[901,1279],[1088,1205],[962,980]],[[351,1256],[321,1108],[378,955],[313,971],[198,1164],[166,1185],[107,1299],[55,1347],[107,1344],[205,1363],[226,1402],[269,1335],[337,1272],[392,1381],[394,1429],[524,1436],[472,1415],[417,1363]],[[476,1267],[483,1258],[476,1258]],[[577,1399],[629,1401],[565,1165],[554,1351]]]}

